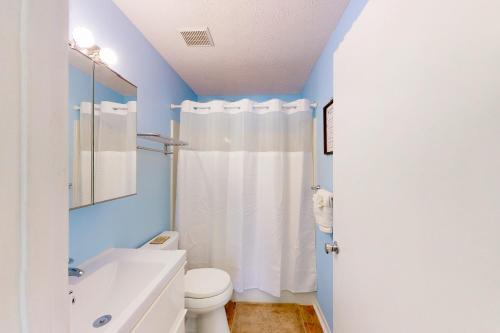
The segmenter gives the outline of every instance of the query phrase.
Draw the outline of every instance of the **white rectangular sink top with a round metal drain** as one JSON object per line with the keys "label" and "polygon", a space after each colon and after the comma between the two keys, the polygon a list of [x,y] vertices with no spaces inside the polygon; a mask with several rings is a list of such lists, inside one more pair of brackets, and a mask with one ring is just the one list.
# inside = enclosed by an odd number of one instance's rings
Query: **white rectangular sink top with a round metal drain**
{"label": "white rectangular sink top with a round metal drain", "polygon": [[185,261],[185,251],[109,249],[78,266],[85,273],[69,278],[71,332],[130,332]]}

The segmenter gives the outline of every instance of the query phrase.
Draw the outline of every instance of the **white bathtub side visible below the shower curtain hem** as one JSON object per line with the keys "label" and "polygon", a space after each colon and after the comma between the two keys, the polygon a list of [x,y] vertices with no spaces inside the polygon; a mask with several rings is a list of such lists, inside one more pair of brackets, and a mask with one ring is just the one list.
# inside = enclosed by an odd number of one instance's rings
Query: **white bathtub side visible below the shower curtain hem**
{"label": "white bathtub side visible below the shower curtain hem", "polygon": [[280,297],[269,295],[258,289],[245,290],[242,293],[234,292],[235,302],[255,302],[255,303],[297,303],[302,305],[313,305],[316,301],[316,292],[292,293],[283,290]]}

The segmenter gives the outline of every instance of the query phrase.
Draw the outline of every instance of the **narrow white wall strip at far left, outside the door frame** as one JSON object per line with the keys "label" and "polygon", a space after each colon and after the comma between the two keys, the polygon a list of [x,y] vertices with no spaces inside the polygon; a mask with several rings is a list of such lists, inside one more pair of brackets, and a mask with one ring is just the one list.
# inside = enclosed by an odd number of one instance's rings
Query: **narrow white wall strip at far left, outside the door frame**
{"label": "narrow white wall strip at far left, outside the door frame", "polygon": [[[0,108],[2,121],[0,133],[1,186],[0,186],[0,330],[17,332],[20,329],[19,315],[19,8],[20,4],[11,0],[0,12]],[[10,110],[15,110],[12,112]],[[6,139],[9,138],[9,139]],[[10,157],[10,158],[8,158]]]}

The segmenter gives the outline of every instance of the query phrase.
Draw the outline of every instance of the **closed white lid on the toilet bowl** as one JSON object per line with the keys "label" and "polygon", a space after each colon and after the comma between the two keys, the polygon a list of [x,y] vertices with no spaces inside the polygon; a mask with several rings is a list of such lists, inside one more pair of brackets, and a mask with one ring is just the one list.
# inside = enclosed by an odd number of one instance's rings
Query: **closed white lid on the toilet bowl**
{"label": "closed white lid on the toilet bowl", "polygon": [[230,285],[231,277],[216,268],[196,268],[187,271],[185,295],[190,298],[207,298],[222,294]]}

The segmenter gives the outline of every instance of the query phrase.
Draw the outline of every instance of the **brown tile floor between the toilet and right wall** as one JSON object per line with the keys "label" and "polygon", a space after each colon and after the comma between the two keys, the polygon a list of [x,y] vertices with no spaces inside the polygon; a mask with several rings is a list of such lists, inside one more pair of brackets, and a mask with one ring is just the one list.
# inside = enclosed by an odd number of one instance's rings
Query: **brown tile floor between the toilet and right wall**
{"label": "brown tile floor between the toilet and right wall", "polygon": [[312,305],[229,302],[231,333],[323,333]]}

